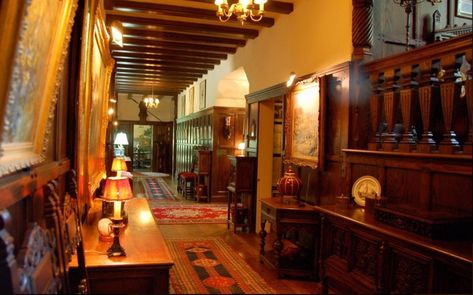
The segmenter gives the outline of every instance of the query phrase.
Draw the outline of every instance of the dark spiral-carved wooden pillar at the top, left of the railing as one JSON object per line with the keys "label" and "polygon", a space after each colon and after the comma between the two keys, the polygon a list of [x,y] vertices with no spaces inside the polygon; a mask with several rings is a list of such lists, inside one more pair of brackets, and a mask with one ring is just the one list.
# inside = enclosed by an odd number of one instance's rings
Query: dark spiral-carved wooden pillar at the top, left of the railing
{"label": "dark spiral-carved wooden pillar at the top, left of the railing", "polygon": [[353,59],[371,56],[373,45],[373,0],[353,0],[352,44]]}

